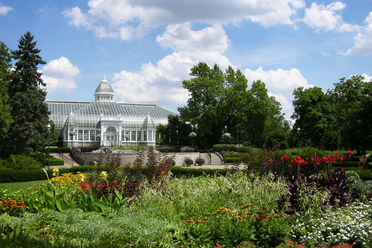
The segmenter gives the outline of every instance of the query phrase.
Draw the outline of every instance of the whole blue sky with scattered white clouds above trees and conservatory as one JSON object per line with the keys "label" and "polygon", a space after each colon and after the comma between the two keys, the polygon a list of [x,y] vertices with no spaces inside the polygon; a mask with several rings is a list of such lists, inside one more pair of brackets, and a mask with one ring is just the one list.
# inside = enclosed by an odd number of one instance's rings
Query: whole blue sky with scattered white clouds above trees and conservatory
{"label": "whole blue sky with scattered white clouds above trees and conservatory", "polygon": [[0,1],[0,41],[35,36],[48,100],[93,102],[106,77],[115,102],[178,113],[206,62],[262,80],[290,119],[295,88],[372,79],[372,0]]}

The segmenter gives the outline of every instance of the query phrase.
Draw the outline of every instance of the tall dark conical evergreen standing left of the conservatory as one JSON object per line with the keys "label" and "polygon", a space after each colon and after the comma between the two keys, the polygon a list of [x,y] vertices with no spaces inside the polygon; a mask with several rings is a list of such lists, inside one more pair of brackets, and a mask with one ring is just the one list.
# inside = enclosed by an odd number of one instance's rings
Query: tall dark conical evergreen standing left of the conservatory
{"label": "tall dark conical evergreen standing left of the conservatory", "polygon": [[30,32],[19,39],[18,49],[12,51],[16,62],[8,91],[13,123],[7,135],[9,142],[5,144],[7,153],[27,153],[45,139],[43,134],[48,125],[49,112],[45,103],[47,92],[40,88],[45,84],[38,65],[44,65],[45,61],[39,52]]}

